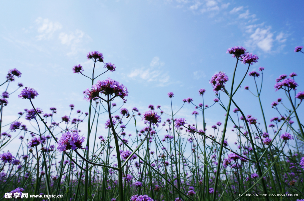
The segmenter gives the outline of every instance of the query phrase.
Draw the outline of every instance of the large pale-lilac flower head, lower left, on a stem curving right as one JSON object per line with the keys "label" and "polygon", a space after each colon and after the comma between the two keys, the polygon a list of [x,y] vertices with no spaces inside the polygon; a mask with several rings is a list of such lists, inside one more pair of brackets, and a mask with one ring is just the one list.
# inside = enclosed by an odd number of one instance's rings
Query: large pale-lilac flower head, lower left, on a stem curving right
{"label": "large pale-lilac flower head, lower left, on a stem curving right", "polygon": [[[85,141],[85,137],[80,137],[78,132],[69,132],[62,133],[62,136],[58,140],[57,149],[59,152],[66,151],[69,149],[85,149],[82,148],[82,143]],[[87,148],[86,148],[87,149]]]}

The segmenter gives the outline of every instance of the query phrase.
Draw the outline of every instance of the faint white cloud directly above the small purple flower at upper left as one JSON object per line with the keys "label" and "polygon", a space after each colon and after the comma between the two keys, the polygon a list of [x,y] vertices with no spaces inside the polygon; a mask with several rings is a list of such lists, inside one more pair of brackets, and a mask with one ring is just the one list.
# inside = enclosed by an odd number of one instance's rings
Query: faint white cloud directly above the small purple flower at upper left
{"label": "faint white cloud directly above the small purple flower at upper left", "polygon": [[62,44],[65,44],[71,48],[71,52],[68,52],[67,55],[74,55],[82,50],[82,43],[90,40],[91,38],[87,34],[85,34],[85,32],[81,30],[76,30],[71,34],[67,34],[64,32],[60,33],[59,39]]}

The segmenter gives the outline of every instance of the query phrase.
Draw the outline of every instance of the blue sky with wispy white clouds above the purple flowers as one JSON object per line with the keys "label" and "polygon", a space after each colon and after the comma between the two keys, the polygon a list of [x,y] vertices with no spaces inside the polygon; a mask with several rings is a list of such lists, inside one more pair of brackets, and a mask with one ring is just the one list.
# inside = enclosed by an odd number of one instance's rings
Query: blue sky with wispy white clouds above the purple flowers
{"label": "blue sky with wispy white clouds above the purple flowers", "polygon": [[[110,77],[128,87],[129,109],[138,107],[144,112],[149,104],[169,109],[170,91],[175,94],[175,109],[187,97],[199,104],[201,88],[207,90],[205,103],[211,105],[215,97],[209,80],[219,71],[232,76],[235,59],[226,50],[241,45],[259,56],[250,71],[265,68],[262,103],[270,123],[269,119],[278,115],[271,109],[271,102],[279,97],[284,101],[285,96],[273,88],[279,75],[297,73],[298,91],[304,90],[300,78],[304,74],[304,55],[294,52],[296,46],[304,44],[303,4],[221,0],[6,1],[0,12],[0,76],[4,80],[12,68],[21,71],[22,77],[11,84],[11,91],[18,82],[33,87],[39,93],[35,106],[48,113],[49,107],[57,107],[58,117],[68,114],[71,103],[86,112],[88,104],[82,92],[90,87],[90,81],[73,74],[72,67],[81,64],[84,73],[90,75],[92,61],[86,60],[86,54],[96,50],[104,54],[105,62],[116,65],[115,72],[107,72],[101,79]],[[96,74],[104,71],[102,67],[98,64]],[[245,68],[239,64],[238,81]],[[244,91],[245,85],[253,88],[253,78],[246,77],[235,99],[245,114],[252,114],[262,123],[257,99]],[[3,113],[7,121],[30,108],[29,102],[17,95],[12,94]],[[193,110],[194,106],[187,104],[179,117],[193,120]],[[206,114],[209,126],[223,122],[224,114],[218,105],[210,108]]]}

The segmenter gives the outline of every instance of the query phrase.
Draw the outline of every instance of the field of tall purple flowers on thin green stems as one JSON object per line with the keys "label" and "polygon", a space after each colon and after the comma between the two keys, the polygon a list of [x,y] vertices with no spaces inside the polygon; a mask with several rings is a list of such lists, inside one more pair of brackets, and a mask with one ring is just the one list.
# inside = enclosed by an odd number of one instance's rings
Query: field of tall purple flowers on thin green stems
{"label": "field of tall purple flowers on thin green stems", "polygon": [[[303,53],[302,47],[296,47],[295,52]],[[136,105],[130,106],[131,111],[124,108],[127,87],[104,79],[116,66],[105,63],[103,54],[97,51],[87,55],[94,65],[92,75],[84,74],[80,64],[73,67],[73,73],[87,77],[92,85],[83,92],[87,100],[83,104],[88,105],[88,111],[76,110],[71,104],[70,114],[63,117],[56,116],[55,107],[42,110],[35,104],[39,91],[23,87],[22,83],[14,89],[14,81],[22,73],[16,68],[9,70],[0,85],[4,91],[0,99],[0,199],[303,201],[304,126],[298,114],[303,113],[304,91],[297,91],[301,90],[297,74],[282,74],[276,79],[274,90],[284,98],[271,103],[277,117],[268,124],[260,99],[264,68],[250,72],[258,56],[238,46],[229,48],[227,53],[236,61],[233,76],[219,72],[211,77],[214,100],[205,100],[206,90],[198,87],[195,99],[201,101],[194,102],[189,97],[181,102],[180,108],[185,104],[195,107],[195,122],[182,118],[180,109],[174,111],[173,92],[168,93],[168,111],[159,105],[149,105],[147,111],[139,111]],[[97,63],[104,63],[104,73],[94,74]],[[245,65],[247,72],[240,83],[235,83],[240,65]],[[254,86],[245,86],[246,76],[254,79]],[[241,86],[245,86],[246,95],[256,97],[258,104],[254,107],[261,110],[263,119],[244,114],[238,106],[233,97],[240,93]],[[5,107],[11,98],[17,98],[17,93],[32,108],[19,112],[18,119],[4,125]],[[228,101],[221,99],[223,96]],[[123,104],[114,103],[117,99],[122,99]],[[208,106],[206,102],[210,101],[212,105]],[[212,110],[215,104],[225,111],[225,121],[207,130],[205,110]],[[101,122],[102,116],[108,120]],[[22,124],[21,117],[32,127],[28,129]],[[146,126],[139,127],[139,121]],[[87,129],[79,130],[85,123]],[[233,125],[237,150],[227,142],[228,124]],[[98,130],[100,125],[102,130]],[[136,135],[127,134],[126,127]],[[8,152],[7,147],[15,138],[19,138],[20,146]],[[94,139],[93,146],[89,139]],[[24,193],[43,196],[25,198]]]}

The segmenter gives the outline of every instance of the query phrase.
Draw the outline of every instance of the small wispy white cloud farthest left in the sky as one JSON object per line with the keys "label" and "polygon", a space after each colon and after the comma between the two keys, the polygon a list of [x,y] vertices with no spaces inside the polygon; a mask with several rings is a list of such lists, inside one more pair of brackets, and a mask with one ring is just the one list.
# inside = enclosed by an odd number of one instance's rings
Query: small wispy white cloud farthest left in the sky
{"label": "small wispy white cloud farthest left in the sky", "polygon": [[54,32],[61,29],[62,25],[59,22],[52,22],[49,19],[37,18],[35,21],[38,25],[37,31],[40,35],[36,36],[37,40],[49,39],[53,36]]}

